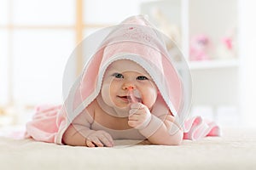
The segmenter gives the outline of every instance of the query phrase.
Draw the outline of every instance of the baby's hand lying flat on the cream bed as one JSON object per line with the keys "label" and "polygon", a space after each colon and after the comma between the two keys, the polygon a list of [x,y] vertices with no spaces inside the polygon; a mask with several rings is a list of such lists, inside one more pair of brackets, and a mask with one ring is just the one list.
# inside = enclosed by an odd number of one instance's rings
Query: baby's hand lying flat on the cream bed
{"label": "baby's hand lying flat on the cream bed", "polygon": [[88,147],[111,147],[113,146],[113,139],[110,134],[105,131],[91,131],[91,133],[85,139],[85,145]]}

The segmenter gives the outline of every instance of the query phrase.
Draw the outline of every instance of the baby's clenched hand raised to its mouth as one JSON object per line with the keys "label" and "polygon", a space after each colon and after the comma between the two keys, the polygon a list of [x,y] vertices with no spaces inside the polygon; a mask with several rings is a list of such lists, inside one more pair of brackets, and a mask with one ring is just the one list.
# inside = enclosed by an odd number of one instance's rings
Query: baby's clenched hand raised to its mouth
{"label": "baby's clenched hand raised to its mouth", "polygon": [[137,129],[147,127],[151,120],[151,113],[148,110],[148,107],[142,103],[131,104],[129,115],[128,125]]}

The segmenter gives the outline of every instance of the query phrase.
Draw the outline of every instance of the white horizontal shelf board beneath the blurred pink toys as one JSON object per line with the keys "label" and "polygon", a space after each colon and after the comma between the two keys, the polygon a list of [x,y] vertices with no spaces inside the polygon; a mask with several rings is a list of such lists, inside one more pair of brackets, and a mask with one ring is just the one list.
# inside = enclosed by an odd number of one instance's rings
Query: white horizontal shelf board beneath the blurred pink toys
{"label": "white horizontal shelf board beneath the blurred pink toys", "polygon": [[189,69],[191,71],[205,70],[205,69],[232,68],[232,67],[238,67],[238,66],[239,66],[238,59],[189,61]]}

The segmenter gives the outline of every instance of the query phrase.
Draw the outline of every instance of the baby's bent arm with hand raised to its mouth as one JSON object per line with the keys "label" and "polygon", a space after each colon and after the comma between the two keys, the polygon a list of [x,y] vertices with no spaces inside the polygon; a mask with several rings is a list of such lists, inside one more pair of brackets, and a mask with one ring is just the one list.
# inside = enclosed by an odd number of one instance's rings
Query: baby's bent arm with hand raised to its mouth
{"label": "baby's bent arm with hand raised to its mouth", "polygon": [[[151,114],[147,106],[139,104],[140,106],[136,108],[137,105],[131,105],[128,122],[131,127],[137,128],[152,144],[181,144],[183,132],[171,112],[160,107]],[[166,113],[161,113],[163,111]]]}

